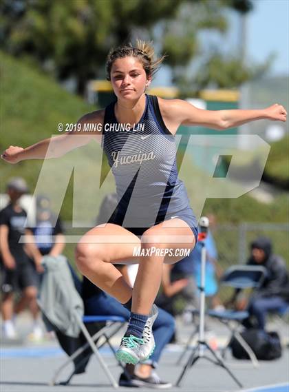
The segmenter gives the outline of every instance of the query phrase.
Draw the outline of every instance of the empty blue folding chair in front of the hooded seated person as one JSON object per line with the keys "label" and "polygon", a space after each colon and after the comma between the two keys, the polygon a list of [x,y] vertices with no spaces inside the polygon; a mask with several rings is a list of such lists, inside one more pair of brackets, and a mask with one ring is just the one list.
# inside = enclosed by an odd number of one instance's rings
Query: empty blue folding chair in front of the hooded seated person
{"label": "empty blue folding chair in front of the hooded seated person", "polygon": [[[266,277],[266,269],[262,266],[251,266],[251,265],[233,265],[229,267],[220,280],[220,286],[232,287],[233,289],[258,289]],[[207,311],[208,316],[215,318],[222,322],[222,324],[228,327],[231,332],[230,340],[226,347],[222,350],[222,356],[224,357],[226,349],[233,338],[235,338],[239,344],[242,345],[244,350],[248,353],[250,360],[254,367],[259,366],[259,362],[256,358],[253,350],[248,346],[247,342],[242,338],[238,329],[242,322],[248,318],[248,311],[237,311],[234,309],[226,309],[224,311],[215,311],[209,309]]]}

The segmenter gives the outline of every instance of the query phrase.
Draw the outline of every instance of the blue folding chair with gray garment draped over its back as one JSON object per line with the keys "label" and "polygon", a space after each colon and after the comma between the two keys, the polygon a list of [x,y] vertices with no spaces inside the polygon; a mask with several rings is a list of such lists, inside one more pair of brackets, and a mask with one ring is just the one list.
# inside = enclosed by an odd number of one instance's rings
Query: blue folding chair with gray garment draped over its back
{"label": "blue folding chair with gray garment draped over its back", "polygon": [[[111,371],[107,367],[105,360],[100,355],[98,349],[101,346],[98,345],[99,339],[104,338],[103,344],[109,344],[111,351],[115,354],[114,348],[111,346],[109,339],[114,336],[117,331],[125,324],[125,318],[119,316],[85,316],[83,300],[76,290],[76,285],[73,279],[72,271],[69,268],[67,259],[64,256],[45,256],[42,260],[42,265],[45,268],[41,285],[39,287],[39,298],[37,300],[39,307],[43,313],[43,320],[45,327],[48,331],[56,331],[57,333],[63,333],[67,338],[78,339],[80,333],[86,340],[85,344],[81,347],[78,344],[76,351],[72,355],[69,355],[68,360],[56,371],[50,384],[56,384],[56,378],[59,373],[67,366],[67,364],[74,361],[76,364],[76,358],[78,355],[84,353],[85,350],[92,351],[94,356],[97,358],[100,367],[107,375],[109,382],[114,388],[118,388],[118,382],[116,382]],[[103,323],[105,326],[101,326],[93,336],[90,335],[87,327],[91,323]],[[83,340],[83,341],[85,341]],[[103,346],[102,344],[102,346]],[[73,351],[72,351],[73,352]],[[78,367],[81,367],[83,362],[89,358],[91,352],[85,351],[84,355],[80,358]],[[84,357],[84,358],[83,358]],[[115,357],[115,355],[114,355]],[[120,364],[120,362],[118,362]],[[122,364],[120,364],[122,366]],[[123,369],[123,367],[122,367]],[[77,373],[77,367],[74,369],[69,378],[61,384],[68,384],[72,376]]]}

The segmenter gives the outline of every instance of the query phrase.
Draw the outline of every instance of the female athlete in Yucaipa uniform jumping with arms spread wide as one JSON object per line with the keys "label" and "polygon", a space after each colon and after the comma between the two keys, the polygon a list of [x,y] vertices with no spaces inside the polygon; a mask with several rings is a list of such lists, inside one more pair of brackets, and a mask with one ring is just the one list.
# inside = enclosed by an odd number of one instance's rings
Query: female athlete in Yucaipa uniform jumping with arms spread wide
{"label": "female athlete in Yucaipa uniform jumping with arms spread wide", "polygon": [[[210,111],[178,99],[149,96],[144,92],[161,62],[143,41],[112,50],[107,78],[116,101],[104,110],[85,114],[78,121],[81,132],[26,148],[10,146],[2,154],[8,163],[18,163],[62,156],[92,139],[101,143],[116,181],[118,207],[105,227],[96,226],[83,236],[76,247],[76,263],[83,275],[131,310],[116,355],[134,364],[148,358],[154,348],[151,327],[158,311],[153,301],[162,264],[178,262],[184,257],[180,250],[193,249],[197,240],[197,221],[176,167],[174,135],[178,127],[225,130],[264,118],[286,121],[287,114],[278,104],[264,110]],[[102,132],[86,133],[87,123],[101,124]],[[120,125],[124,125],[122,132]],[[104,236],[109,244],[98,240]],[[122,243],[115,238],[122,238]],[[119,262],[140,263],[133,289],[114,266]]]}

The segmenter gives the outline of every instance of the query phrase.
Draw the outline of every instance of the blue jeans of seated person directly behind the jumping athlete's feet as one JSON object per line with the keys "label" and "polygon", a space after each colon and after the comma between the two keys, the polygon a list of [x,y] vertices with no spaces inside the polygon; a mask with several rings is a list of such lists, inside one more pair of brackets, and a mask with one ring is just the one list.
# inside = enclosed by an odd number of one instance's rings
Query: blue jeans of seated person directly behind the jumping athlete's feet
{"label": "blue jeans of seated person directly behind the jumping athlete's feet", "polygon": [[[142,362],[157,367],[164,346],[169,343],[175,331],[175,320],[167,311],[158,309],[158,317],[153,323],[153,337],[156,341],[156,349],[149,360]],[[122,316],[129,320],[130,312],[123,307],[115,298],[106,293],[100,293],[85,300],[86,316]]]}

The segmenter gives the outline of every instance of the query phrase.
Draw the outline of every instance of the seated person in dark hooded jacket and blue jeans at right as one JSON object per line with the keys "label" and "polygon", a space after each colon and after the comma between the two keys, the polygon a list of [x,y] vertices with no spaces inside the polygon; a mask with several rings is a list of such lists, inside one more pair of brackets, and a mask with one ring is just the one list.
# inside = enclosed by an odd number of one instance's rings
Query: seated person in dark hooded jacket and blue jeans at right
{"label": "seated person in dark hooded jacket and blue jeans at right", "polygon": [[289,305],[289,277],[286,265],[281,258],[272,254],[269,238],[259,237],[250,244],[251,253],[247,265],[262,265],[266,268],[266,278],[250,297],[248,302],[237,300],[239,291],[235,291],[229,302],[236,302],[237,309],[247,307],[250,318],[244,322],[245,327],[265,329],[266,315],[270,311],[279,311]]}

